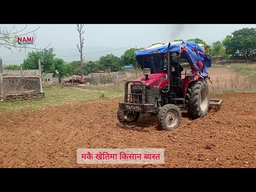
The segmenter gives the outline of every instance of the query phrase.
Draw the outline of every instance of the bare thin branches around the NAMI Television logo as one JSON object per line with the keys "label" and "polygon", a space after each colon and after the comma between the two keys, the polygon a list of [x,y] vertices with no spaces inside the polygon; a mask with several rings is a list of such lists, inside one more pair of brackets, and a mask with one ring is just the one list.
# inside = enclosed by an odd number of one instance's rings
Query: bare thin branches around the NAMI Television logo
{"label": "bare thin branches around the NAMI Television logo", "polygon": [[30,48],[30,49],[36,49],[36,50],[43,50],[48,48],[48,46],[50,46],[50,44],[46,47],[46,48],[36,48],[36,44],[34,44],[34,47],[29,47],[26,45],[21,45],[21,46],[17,46],[18,43],[18,37],[19,36],[27,36],[30,33],[33,33],[33,37],[34,37],[34,42],[36,40],[36,33],[35,31],[38,30],[40,28],[40,26],[38,28],[36,28],[35,30],[29,31],[29,32],[25,32],[27,25],[22,29],[22,30],[17,30],[15,28],[15,25],[8,30],[8,28],[6,28],[6,26],[4,26],[4,28],[2,28],[0,26],[0,47],[4,47],[9,49],[12,52],[12,48]]}

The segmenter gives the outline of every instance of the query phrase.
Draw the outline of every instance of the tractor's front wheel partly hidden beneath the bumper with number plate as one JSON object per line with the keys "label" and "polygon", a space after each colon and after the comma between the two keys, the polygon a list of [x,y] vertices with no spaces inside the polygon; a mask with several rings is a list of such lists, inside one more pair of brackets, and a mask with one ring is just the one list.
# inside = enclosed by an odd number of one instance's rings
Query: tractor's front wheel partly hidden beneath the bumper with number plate
{"label": "tractor's front wheel partly hidden beneath the bumper with number plate", "polygon": [[117,118],[120,123],[136,122],[140,118],[140,113],[136,111],[124,111],[118,109]]}

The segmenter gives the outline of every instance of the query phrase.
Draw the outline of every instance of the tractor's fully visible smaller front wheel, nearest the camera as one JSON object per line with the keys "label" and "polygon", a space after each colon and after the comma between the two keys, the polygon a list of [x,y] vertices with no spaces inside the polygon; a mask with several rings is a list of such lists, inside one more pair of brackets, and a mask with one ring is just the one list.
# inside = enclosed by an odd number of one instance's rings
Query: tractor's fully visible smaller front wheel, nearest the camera
{"label": "tractor's fully visible smaller front wheel, nearest the camera", "polygon": [[158,126],[167,131],[173,130],[180,125],[181,113],[178,106],[167,104],[158,113]]}

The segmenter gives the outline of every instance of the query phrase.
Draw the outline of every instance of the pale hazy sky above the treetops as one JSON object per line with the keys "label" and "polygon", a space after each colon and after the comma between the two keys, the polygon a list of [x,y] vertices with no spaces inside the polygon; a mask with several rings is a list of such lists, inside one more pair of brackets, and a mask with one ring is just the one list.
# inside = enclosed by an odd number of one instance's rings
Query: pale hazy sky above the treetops
{"label": "pale hazy sky above the treetops", "polygon": [[[10,29],[14,24],[0,24],[1,28],[4,26]],[[17,30],[25,26],[15,24]],[[76,24],[28,24],[24,33],[39,26],[35,32],[36,48],[45,48],[51,43],[49,48],[54,48],[57,57],[62,57],[66,62],[80,60],[80,56],[73,56],[80,54],[76,47],[79,44]],[[172,42],[174,39],[200,38],[212,45],[242,28],[256,28],[256,24],[84,24],[83,54],[86,54],[85,60],[94,61],[110,53],[121,56],[128,47],[148,47],[153,43]],[[27,48],[26,54],[30,51],[32,49]],[[13,48],[12,52],[0,47],[3,64],[21,64],[26,58],[24,49],[19,52],[19,49]]]}

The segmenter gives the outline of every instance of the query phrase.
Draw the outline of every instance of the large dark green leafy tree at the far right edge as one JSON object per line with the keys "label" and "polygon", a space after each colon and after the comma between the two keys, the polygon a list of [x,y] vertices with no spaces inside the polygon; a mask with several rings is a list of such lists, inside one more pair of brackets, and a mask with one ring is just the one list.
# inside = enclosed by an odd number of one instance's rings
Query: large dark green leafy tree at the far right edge
{"label": "large dark green leafy tree at the far right edge", "polygon": [[256,57],[256,29],[242,28],[235,30],[232,35],[226,36],[223,40],[223,45],[226,48],[226,54],[232,56],[244,56],[247,58]]}

